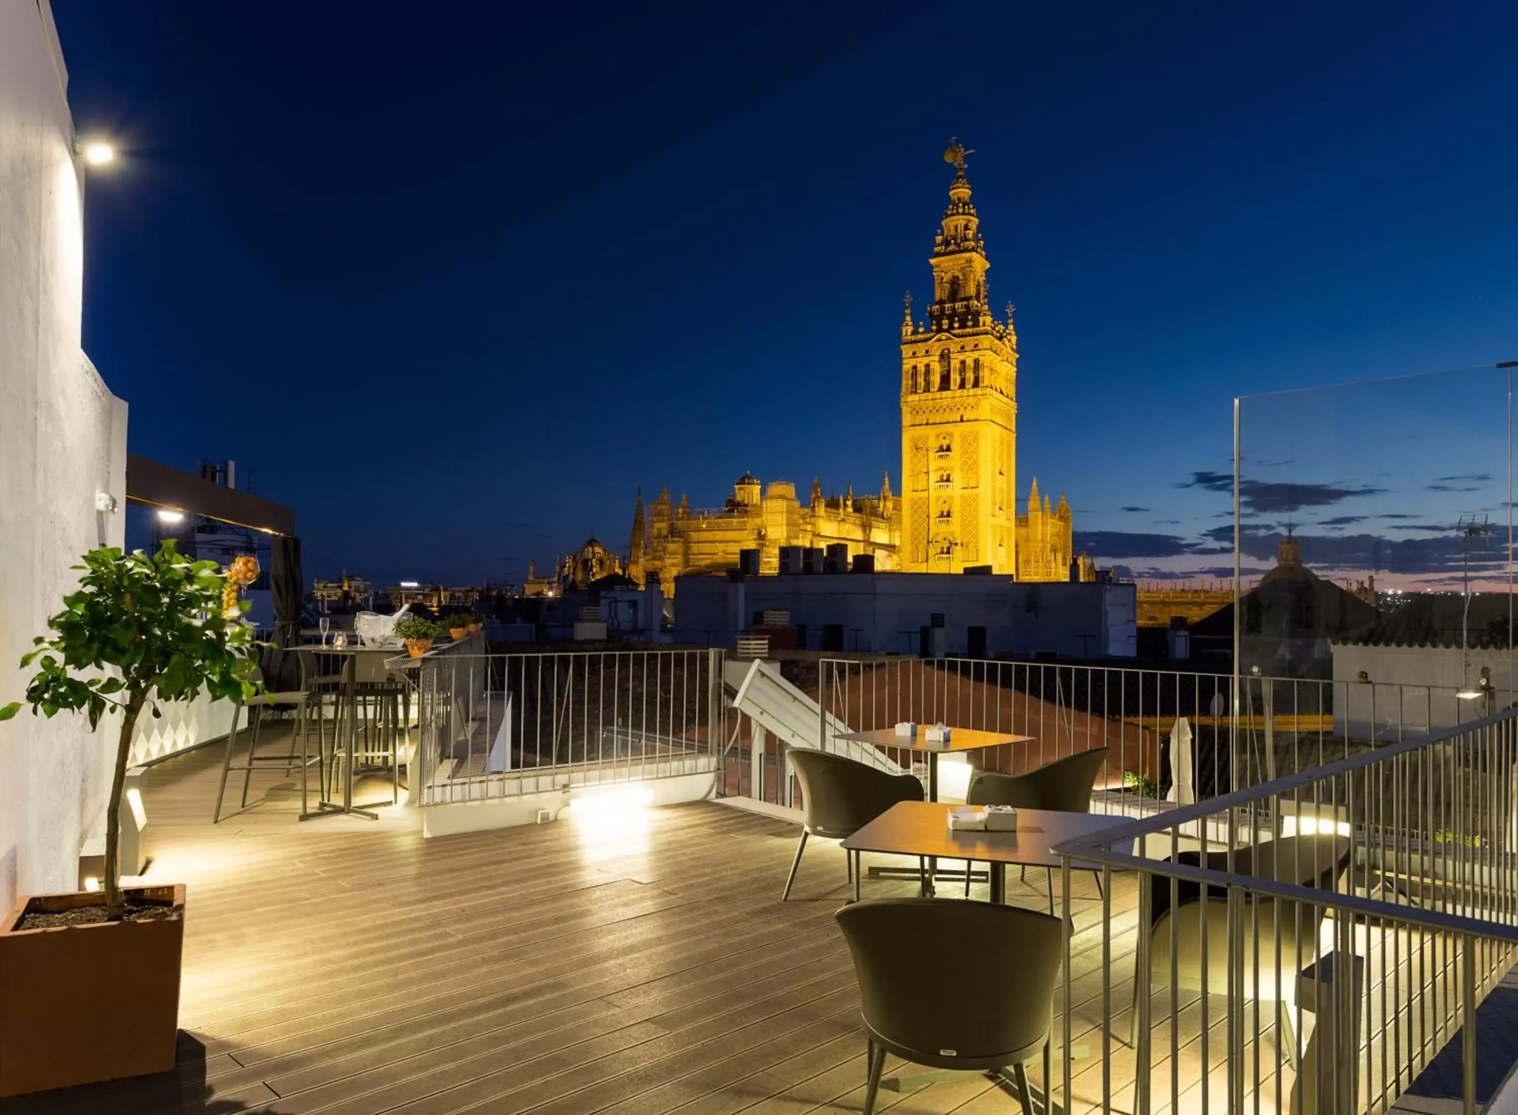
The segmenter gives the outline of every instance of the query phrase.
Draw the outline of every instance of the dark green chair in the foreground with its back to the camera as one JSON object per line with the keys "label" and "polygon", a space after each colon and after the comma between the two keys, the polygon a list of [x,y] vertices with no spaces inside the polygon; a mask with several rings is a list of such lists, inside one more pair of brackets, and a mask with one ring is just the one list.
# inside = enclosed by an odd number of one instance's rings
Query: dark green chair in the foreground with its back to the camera
{"label": "dark green chair in the foreground with its back to the camera", "polygon": [[[835,916],[853,953],[870,1039],[865,1115],[874,1110],[887,1053],[929,1068],[996,1076],[1011,1068],[1023,1115],[1032,1115],[1023,1065],[1043,1056],[1047,1091],[1064,924],[1016,906],[943,898],[852,903]],[[924,956],[968,965],[946,982]]]}

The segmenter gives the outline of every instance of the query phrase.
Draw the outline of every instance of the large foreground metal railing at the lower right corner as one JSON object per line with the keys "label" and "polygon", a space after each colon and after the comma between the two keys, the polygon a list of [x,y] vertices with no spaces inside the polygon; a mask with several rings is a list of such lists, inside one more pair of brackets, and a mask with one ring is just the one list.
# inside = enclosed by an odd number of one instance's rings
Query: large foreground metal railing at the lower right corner
{"label": "large foreground metal railing at the lower right corner", "polygon": [[1475,1009],[1518,959],[1515,809],[1509,710],[1061,845],[1057,1101],[1383,1112],[1459,1030],[1474,1115]]}

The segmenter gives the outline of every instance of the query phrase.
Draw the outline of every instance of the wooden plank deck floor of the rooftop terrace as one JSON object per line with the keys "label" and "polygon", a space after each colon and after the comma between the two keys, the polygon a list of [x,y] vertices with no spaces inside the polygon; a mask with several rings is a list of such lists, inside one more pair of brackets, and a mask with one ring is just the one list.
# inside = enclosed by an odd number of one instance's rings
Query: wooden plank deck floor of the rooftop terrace
{"label": "wooden plank deck floor of the rooftop terrace", "polygon": [[[291,783],[260,774],[269,796],[213,827],[219,765],[168,760],[146,793],[147,877],[188,884],[181,1066],[0,1112],[861,1110],[833,843],[782,904],[795,827],[716,802],[424,840],[404,807],[301,824]],[[1014,898],[1041,907],[1032,881]],[[1020,1104],[959,1077],[879,1109]]]}

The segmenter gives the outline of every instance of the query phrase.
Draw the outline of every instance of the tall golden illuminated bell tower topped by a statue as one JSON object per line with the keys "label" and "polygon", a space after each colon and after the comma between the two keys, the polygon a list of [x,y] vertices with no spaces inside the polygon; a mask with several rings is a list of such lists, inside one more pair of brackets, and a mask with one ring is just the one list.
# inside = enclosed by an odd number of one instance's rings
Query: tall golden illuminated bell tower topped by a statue
{"label": "tall golden illuminated bell tower topped by a statue", "polygon": [[1017,334],[990,311],[985,241],[964,156],[934,241],[927,322],[902,322],[902,569],[1017,569]]}

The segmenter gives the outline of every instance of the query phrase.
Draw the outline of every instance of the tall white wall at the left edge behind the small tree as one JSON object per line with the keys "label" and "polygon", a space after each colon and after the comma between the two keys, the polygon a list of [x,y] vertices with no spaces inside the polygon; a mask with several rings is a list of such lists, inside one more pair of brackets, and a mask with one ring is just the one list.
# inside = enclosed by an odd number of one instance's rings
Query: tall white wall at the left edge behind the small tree
{"label": "tall white wall at the left edge behind the small tree", "polygon": [[[0,702],[17,660],[74,584],[79,555],[121,545],[126,404],[80,350],[82,171],[46,0],[0,3]],[[0,725],[0,906],[71,890],[102,807],[102,751],[82,718]]]}

